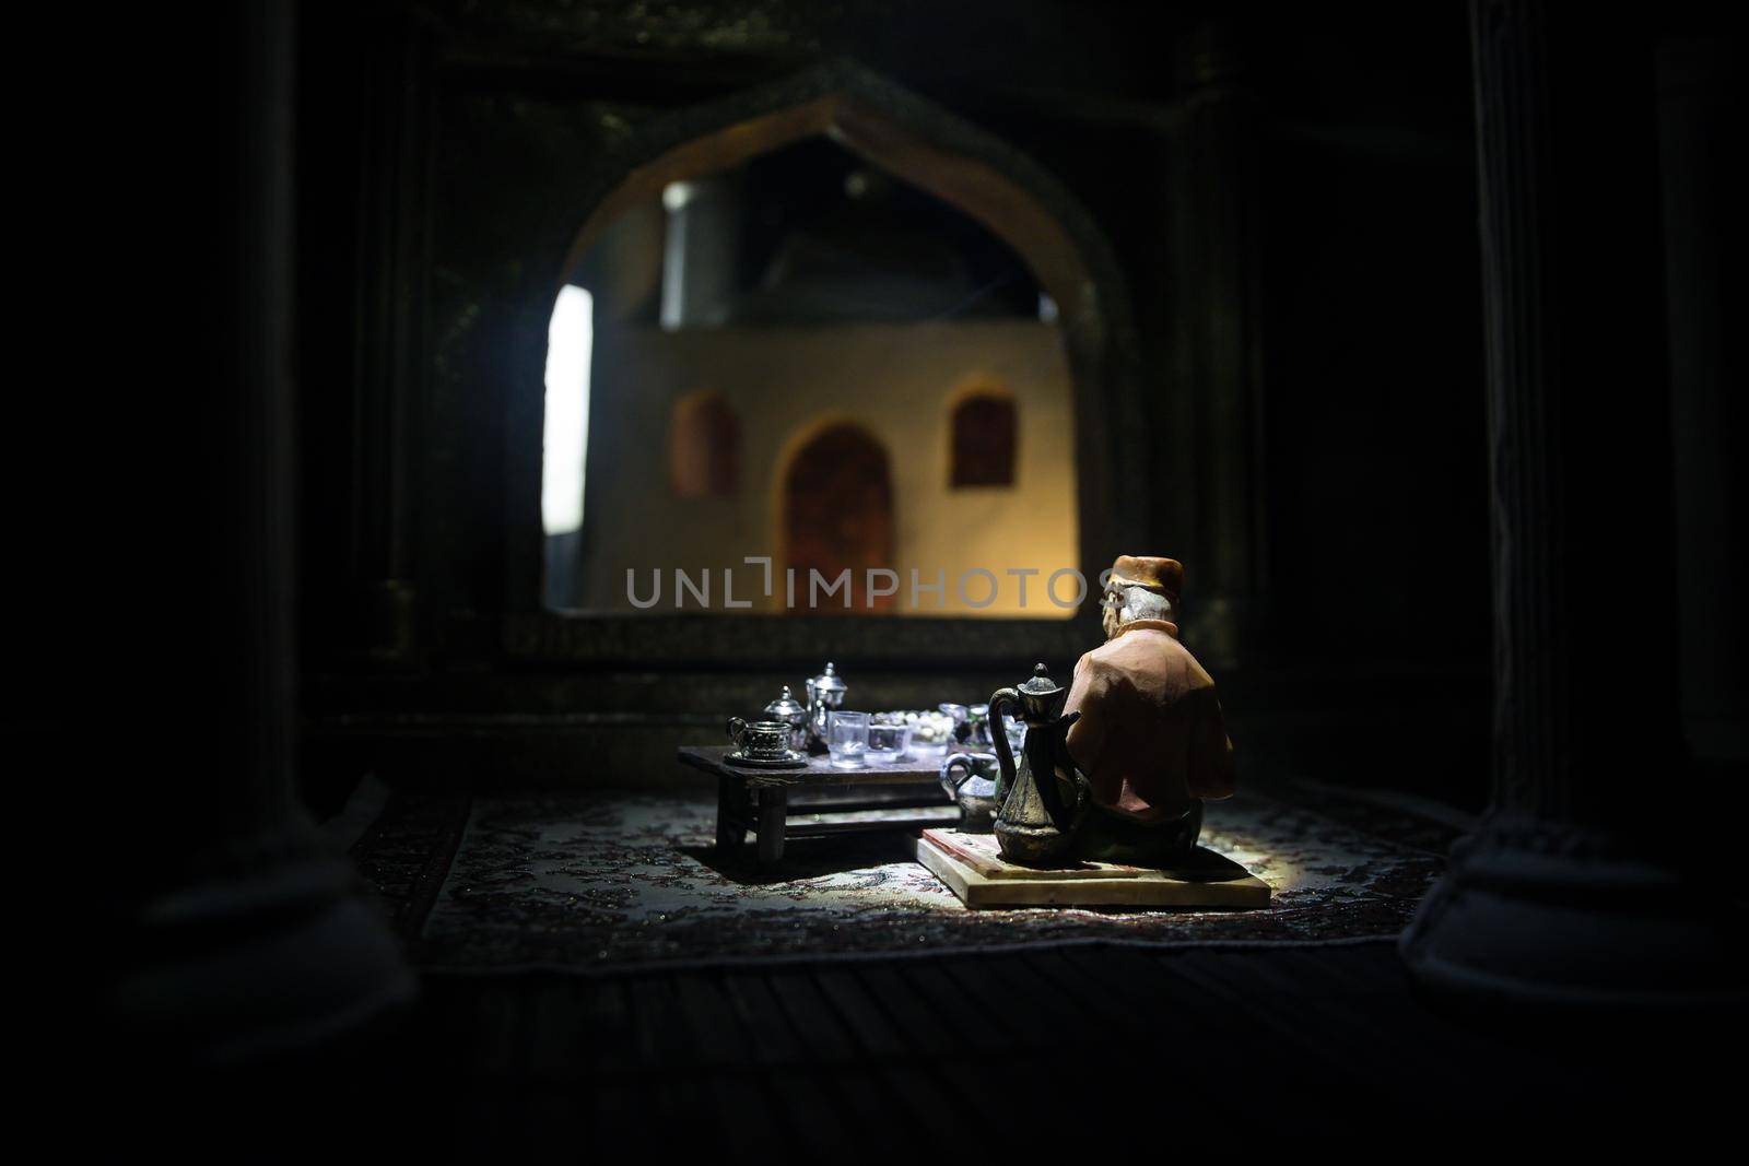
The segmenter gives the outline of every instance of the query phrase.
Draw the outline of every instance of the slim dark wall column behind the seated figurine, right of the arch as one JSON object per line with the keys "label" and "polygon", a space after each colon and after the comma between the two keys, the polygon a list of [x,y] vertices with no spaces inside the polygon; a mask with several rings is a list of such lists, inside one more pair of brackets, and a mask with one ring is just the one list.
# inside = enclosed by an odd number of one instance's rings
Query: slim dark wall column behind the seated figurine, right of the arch
{"label": "slim dark wall column behind the seated figurine, right of the arch", "polygon": [[1186,91],[1175,126],[1177,246],[1189,351],[1189,432],[1179,475],[1195,505],[1195,530],[1182,556],[1191,563],[1193,600],[1186,636],[1216,670],[1245,663],[1263,621],[1261,537],[1263,309],[1258,198],[1259,108],[1244,77],[1242,47],[1221,23],[1205,23],[1181,61]]}

